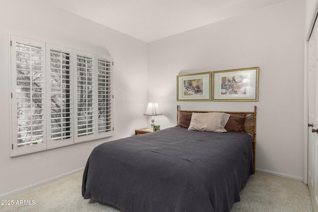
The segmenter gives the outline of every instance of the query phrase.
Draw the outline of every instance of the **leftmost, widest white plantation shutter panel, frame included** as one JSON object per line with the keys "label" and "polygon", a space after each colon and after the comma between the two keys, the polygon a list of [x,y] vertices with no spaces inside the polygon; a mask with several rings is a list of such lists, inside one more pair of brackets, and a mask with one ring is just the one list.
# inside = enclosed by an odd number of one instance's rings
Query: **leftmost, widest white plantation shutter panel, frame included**
{"label": "leftmost, widest white plantation shutter panel, frame included", "polygon": [[12,155],[46,148],[45,43],[11,36]]}

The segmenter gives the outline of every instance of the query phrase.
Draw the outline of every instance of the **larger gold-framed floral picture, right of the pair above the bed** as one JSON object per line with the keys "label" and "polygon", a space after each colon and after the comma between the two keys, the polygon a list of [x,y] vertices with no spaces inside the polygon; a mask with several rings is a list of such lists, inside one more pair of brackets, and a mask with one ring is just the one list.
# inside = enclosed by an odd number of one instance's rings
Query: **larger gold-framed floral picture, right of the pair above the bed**
{"label": "larger gold-framed floral picture, right of the pair above the bed", "polygon": [[258,101],[259,67],[213,71],[213,101]]}

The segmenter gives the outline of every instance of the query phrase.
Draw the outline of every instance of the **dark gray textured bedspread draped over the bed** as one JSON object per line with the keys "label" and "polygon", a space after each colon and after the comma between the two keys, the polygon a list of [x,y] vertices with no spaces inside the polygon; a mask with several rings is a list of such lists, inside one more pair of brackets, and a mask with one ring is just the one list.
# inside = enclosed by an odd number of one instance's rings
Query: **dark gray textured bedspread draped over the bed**
{"label": "dark gray textured bedspread draped over the bed", "polygon": [[82,196],[124,212],[230,212],[253,173],[250,136],[172,127],[96,146]]}

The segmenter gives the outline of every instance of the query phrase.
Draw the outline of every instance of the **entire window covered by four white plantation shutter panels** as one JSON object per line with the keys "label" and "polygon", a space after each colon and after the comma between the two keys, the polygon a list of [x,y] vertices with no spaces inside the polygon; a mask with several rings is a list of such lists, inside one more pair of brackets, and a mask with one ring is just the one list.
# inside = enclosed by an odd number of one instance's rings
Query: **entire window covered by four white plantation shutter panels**
{"label": "entire window covered by four white plantation shutter panels", "polygon": [[112,58],[11,36],[11,156],[113,135]]}

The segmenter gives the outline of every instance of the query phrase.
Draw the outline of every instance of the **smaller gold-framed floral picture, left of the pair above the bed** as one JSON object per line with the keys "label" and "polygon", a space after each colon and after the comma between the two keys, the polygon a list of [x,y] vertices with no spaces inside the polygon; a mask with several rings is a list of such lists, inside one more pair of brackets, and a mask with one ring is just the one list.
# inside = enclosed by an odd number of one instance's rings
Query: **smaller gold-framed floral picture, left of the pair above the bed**
{"label": "smaller gold-framed floral picture, left of the pair above the bed", "polygon": [[177,101],[211,101],[211,72],[177,75]]}

